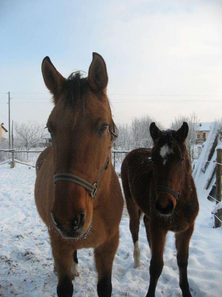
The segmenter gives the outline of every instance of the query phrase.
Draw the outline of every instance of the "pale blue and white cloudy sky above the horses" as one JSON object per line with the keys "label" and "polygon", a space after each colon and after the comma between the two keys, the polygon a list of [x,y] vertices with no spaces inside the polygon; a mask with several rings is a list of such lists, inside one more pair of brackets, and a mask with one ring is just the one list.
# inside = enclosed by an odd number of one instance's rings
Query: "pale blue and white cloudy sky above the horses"
{"label": "pale blue and white cloudy sky above the horses", "polygon": [[115,122],[150,114],[169,127],[193,110],[202,122],[222,116],[222,0],[0,0],[0,27],[6,129],[8,91],[11,119],[47,122],[46,55],[68,77],[88,72],[93,51],[107,65]]}

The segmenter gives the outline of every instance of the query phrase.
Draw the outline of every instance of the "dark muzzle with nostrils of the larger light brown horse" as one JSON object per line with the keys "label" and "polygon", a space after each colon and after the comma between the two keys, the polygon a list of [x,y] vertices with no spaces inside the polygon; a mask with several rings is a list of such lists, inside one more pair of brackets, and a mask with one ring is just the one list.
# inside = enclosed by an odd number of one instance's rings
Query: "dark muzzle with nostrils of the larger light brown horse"
{"label": "dark muzzle with nostrils of the larger light brown horse", "polygon": [[83,236],[87,231],[82,230],[86,218],[85,211],[81,211],[80,213],[76,214],[73,220],[67,222],[66,224],[62,224],[55,216],[55,213],[53,211],[51,211],[51,217],[55,228],[60,232],[63,238],[79,238]]}

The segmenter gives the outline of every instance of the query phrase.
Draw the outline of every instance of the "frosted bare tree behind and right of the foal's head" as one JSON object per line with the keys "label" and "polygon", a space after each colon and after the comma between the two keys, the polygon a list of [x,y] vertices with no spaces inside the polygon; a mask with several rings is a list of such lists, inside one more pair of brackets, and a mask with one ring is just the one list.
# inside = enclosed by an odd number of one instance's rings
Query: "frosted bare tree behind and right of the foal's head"
{"label": "frosted bare tree behind and right of the foal's head", "polygon": [[197,123],[199,122],[199,119],[195,114],[195,111],[193,111],[189,115],[179,114],[178,116],[175,116],[174,121],[171,122],[170,127],[172,130],[178,130],[182,126],[183,122],[187,122],[189,126],[186,145],[187,145],[187,150],[188,150],[190,160],[193,161],[194,144],[197,139],[197,131],[199,128],[199,125],[197,125]]}

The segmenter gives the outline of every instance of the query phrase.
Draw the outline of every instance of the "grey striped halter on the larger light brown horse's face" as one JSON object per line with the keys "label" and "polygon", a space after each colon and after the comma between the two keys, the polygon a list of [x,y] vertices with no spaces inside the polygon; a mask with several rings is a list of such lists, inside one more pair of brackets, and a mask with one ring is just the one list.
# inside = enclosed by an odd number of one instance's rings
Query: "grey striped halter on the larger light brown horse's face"
{"label": "grey striped halter on the larger light brown horse's face", "polygon": [[100,172],[100,176],[99,176],[97,182],[95,182],[93,185],[91,183],[87,182],[85,179],[82,179],[77,175],[69,174],[69,173],[57,173],[57,174],[54,175],[53,181],[54,181],[54,184],[58,180],[68,180],[69,182],[77,183],[78,185],[80,185],[80,186],[84,187],[85,189],[91,191],[92,198],[95,198],[96,194],[97,194],[98,187],[99,187],[99,183],[100,183],[100,180],[101,180],[101,177],[102,177],[102,174],[103,174],[104,170],[108,168],[108,165],[109,165],[109,156],[106,159],[105,165],[103,166],[103,168],[102,168],[102,170]]}

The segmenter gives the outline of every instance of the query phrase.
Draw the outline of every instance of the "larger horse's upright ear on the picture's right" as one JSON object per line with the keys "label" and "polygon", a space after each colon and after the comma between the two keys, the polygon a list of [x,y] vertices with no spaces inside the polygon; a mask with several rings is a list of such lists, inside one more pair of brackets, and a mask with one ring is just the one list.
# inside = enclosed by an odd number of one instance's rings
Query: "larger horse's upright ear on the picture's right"
{"label": "larger horse's upright ear on the picture's right", "polygon": [[88,71],[88,82],[93,91],[103,91],[108,84],[106,64],[101,55],[92,53],[92,62]]}

